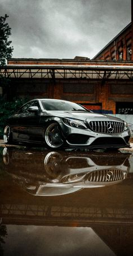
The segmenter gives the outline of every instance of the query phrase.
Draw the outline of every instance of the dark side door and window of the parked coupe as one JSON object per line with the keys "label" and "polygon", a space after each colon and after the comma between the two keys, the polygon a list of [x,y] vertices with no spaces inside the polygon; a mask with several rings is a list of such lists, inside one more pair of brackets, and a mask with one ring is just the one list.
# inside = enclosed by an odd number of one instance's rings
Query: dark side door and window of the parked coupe
{"label": "dark side door and window of the parked coupe", "polygon": [[[36,106],[38,111],[29,111],[29,107]],[[40,141],[41,131],[39,120],[41,108],[38,101],[32,101],[24,105],[17,115],[17,140],[20,141]]]}

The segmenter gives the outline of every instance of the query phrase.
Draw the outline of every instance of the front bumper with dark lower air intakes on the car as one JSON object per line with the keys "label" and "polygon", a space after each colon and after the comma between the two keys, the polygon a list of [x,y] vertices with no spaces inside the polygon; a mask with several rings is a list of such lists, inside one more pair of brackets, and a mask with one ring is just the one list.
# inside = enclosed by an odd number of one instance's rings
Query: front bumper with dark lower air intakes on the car
{"label": "front bumper with dark lower air intakes on the car", "polygon": [[66,147],[87,147],[90,149],[130,147],[130,130],[122,133],[98,133],[90,129],[79,129],[61,124]]}

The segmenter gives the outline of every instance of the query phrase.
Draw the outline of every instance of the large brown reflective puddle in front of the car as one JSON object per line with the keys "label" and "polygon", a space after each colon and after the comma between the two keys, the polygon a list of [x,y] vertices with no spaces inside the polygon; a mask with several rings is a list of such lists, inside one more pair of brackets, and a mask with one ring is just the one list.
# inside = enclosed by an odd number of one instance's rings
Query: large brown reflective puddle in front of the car
{"label": "large brown reflective puddle in front of the car", "polygon": [[0,255],[132,255],[133,150],[0,147]]}

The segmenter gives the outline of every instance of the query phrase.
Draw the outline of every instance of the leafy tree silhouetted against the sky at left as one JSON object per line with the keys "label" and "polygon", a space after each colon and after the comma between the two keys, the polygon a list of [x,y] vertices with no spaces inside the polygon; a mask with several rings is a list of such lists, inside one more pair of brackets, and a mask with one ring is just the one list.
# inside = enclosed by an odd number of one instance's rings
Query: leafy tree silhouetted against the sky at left
{"label": "leafy tree silhouetted against the sky at left", "polygon": [[4,17],[0,17],[0,65],[4,66],[6,64],[6,59],[12,57],[12,51],[14,47],[10,46],[12,41],[8,40],[8,37],[11,35],[11,28],[6,19],[8,15],[5,14]]}

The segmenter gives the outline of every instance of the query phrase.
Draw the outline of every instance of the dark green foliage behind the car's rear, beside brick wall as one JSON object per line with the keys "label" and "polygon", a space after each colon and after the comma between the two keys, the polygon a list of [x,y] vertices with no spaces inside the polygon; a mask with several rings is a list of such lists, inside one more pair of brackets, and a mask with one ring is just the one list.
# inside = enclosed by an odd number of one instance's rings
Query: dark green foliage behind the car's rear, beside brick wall
{"label": "dark green foliage behind the car's rear, beside brick wall", "polygon": [[27,101],[27,98],[14,99],[13,101],[0,99],[0,138],[3,138],[3,129],[5,127],[6,119],[14,114],[14,112]]}

